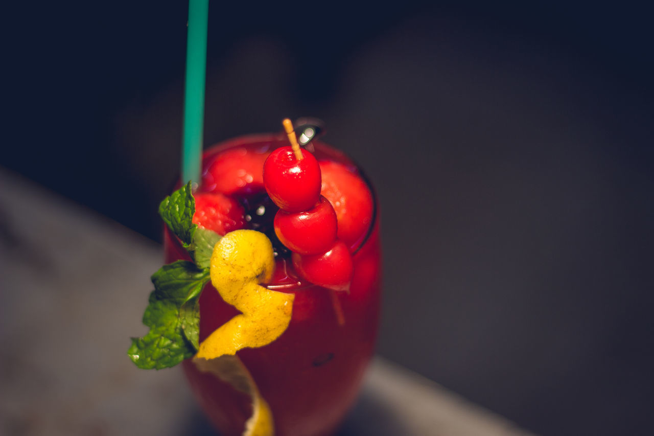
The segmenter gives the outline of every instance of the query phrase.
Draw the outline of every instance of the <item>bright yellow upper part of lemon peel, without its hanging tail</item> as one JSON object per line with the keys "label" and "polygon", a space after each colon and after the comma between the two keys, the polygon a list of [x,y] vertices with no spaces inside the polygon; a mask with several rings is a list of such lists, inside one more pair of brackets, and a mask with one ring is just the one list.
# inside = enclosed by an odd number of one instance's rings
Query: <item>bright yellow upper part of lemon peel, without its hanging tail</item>
{"label": "bright yellow upper part of lemon peel, without its hanging tail", "polygon": [[220,239],[211,256],[211,284],[225,302],[242,313],[203,340],[196,359],[262,347],[284,333],[295,295],[259,284],[269,282],[274,270],[273,246],[265,234],[235,230]]}

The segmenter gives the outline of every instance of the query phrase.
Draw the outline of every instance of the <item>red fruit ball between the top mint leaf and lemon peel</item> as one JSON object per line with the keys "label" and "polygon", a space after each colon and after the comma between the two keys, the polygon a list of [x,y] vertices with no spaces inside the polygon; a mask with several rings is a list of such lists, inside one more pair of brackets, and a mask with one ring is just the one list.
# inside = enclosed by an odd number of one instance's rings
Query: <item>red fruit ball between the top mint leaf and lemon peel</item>
{"label": "red fruit ball between the top mint leaf and lemon peel", "polygon": [[193,215],[193,222],[198,227],[213,230],[220,235],[246,227],[243,207],[236,200],[209,192],[198,192],[194,197],[196,213]]}

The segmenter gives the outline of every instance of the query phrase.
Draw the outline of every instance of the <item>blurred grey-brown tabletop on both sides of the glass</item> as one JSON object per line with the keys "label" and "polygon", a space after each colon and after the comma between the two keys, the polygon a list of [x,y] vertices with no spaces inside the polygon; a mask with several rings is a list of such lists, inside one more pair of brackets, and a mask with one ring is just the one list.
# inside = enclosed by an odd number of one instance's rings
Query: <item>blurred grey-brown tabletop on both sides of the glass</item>
{"label": "blurred grey-brown tabletop on both sides of the glass", "polygon": [[[213,434],[179,369],[126,355],[159,245],[2,168],[0,242],[0,434]],[[529,433],[377,357],[338,433],[370,434]]]}

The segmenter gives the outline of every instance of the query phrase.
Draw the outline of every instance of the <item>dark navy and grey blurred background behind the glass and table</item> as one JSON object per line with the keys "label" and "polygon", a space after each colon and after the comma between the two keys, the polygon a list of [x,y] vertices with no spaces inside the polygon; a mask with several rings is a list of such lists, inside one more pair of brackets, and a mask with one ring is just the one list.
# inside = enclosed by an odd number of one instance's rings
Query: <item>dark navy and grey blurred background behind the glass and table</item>
{"label": "dark navy and grey blurred background behind the glass and table", "polygon": [[[322,118],[381,199],[381,355],[538,433],[649,433],[649,15],[398,3],[212,2],[205,143]],[[186,3],[22,8],[0,164],[160,240]]]}

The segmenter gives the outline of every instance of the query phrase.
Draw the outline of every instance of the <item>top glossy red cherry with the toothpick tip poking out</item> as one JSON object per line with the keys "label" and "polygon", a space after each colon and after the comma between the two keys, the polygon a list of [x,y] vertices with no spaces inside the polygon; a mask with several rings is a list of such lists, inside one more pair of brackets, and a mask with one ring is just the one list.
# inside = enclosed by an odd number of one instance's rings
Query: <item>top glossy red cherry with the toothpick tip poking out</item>
{"label": "top glossy red cherry with the toothpick tip poking out", "polygon": [[290,146],[268,156],[264,164],[264,185],[273,202],[289,212],[313,208],[320,196],[320,165],[313,154],[301,149],[298,160]]}

